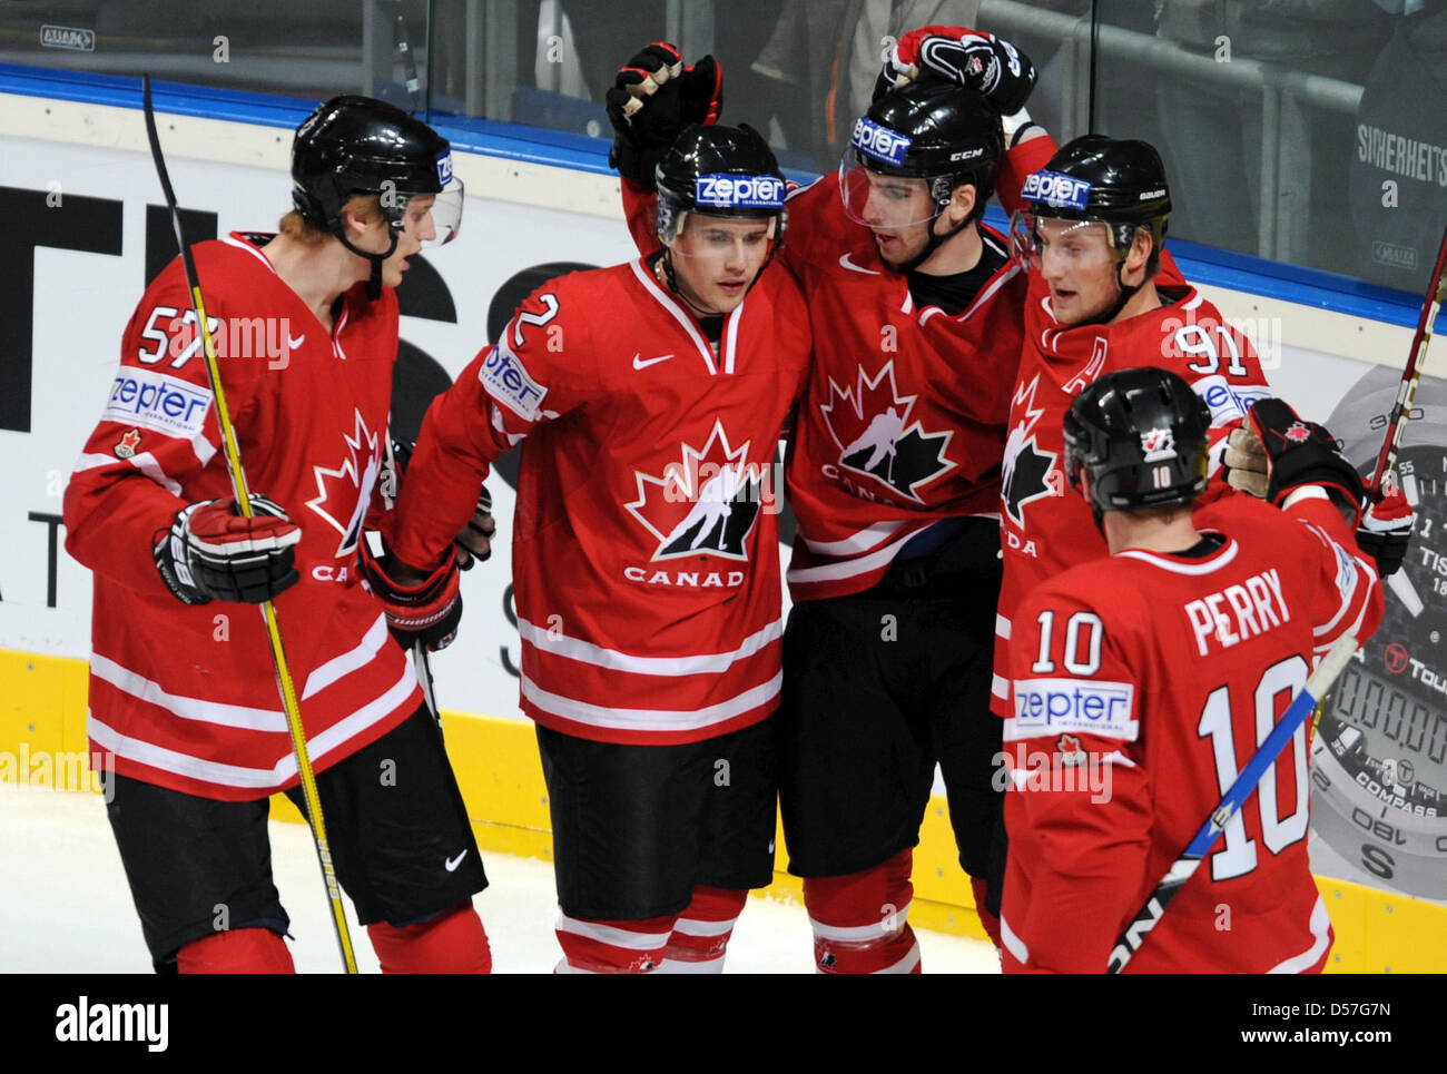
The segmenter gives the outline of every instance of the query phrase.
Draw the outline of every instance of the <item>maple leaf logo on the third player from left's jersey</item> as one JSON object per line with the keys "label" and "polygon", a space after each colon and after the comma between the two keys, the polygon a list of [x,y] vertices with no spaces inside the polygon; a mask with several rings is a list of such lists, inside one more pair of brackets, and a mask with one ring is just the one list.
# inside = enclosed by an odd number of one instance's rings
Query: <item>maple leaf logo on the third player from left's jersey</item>
{"label": "maple leaf logo on the third player from left's jersey", "polygon": [[894,362],[886,362],[873,381],[860,366],[858,382],[848,388],[829,378],[829,402],[819,411],[839,449],[841,468],[923,504],[915,489],[955,468],[945,457],[954,433],[926,433],[919,421],[910,424],[917,398],[899,394]]}

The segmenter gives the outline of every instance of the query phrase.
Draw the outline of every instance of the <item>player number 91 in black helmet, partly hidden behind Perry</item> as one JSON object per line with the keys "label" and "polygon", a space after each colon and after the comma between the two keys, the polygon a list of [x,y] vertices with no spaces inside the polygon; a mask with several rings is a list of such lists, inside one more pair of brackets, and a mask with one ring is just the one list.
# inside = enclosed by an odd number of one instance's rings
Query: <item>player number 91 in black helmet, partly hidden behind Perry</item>
{"label": "player number 91 in black helmet, partly hidden behind Perry", "polygon": [[1061,420],[1071,401],[1114,369],[1156,365],[1184,376],[1211,411],[1208,501],[1227,486],[1227,436],[1270,395],[1250,340],[1162,249],[1171,193],[1150,145],[1078,138],[1026,179],[1022,197],[1027,207],[1011,220],[1011,242],[1030,269],[1030,298],[1000,499],[1004,583],[993,695],[1001,716],[1013,711],[1007,663],[1020,599],[1106,553],[1090,509],[1065,488]]}

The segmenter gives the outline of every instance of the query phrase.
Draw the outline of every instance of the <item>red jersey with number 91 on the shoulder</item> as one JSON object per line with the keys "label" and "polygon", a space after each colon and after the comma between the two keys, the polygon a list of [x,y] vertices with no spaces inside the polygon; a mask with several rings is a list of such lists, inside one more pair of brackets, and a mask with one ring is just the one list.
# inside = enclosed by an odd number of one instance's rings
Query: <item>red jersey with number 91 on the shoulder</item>
{"label": "red jersey with number 91 on the shoulder", "polygon": [[[1024,353],[1010,399],[1000,498],[1004,580],[996,620],[991,705],[1010,715],[1010,640],[1020,599],[1068,567],[1107,554],[1084,496],[1065,481],[1061,424],[1075,397],[1101,373],[1162,366],[1184,376],[1211,410],[1210,472],[1218,475],[1226,437],[1256,399],[1270,395],[1250,340],[1185,284],[1169,253],[1156,276],[1165,305],[1119,324],[1066,327],[1051,313],[1049,288],[1030,274]],[[1207,501],[1220,495],[1217,482]]]}

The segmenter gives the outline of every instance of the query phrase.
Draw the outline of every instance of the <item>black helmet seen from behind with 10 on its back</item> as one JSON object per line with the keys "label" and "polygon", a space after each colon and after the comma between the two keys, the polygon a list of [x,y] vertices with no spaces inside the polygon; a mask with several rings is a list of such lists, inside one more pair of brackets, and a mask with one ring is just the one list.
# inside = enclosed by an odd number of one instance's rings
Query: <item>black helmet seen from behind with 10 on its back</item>
{"label": "black helmet seen from behind with 10 on its back", "polygon": [[1065,476],[1090,473],[1097,523],[1106,511],[1189,504],[1205,491],[1211,411],[1168,369],[1106,373],[1065,415]]}

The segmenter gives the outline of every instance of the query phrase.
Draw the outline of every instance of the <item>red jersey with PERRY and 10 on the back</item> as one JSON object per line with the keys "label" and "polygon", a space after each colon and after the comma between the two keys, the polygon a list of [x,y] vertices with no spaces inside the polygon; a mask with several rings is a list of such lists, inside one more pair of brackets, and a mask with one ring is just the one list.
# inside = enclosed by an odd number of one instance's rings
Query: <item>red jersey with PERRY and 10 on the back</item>
{"label": "red jersey with PERRY and 10 on the back", "polygon": [[[1020,605],[1006,970],[1103,973],[1315,657],[1380,621],[1376,570],[1328,501],[1282,512],[1227,496],[1195,524],[1226,543],[1202,557],[1126,550]],[[1323,965],[1331,926],[1307,861],[1307,738],[1302,725],[1130,973]]]}

